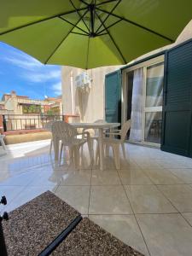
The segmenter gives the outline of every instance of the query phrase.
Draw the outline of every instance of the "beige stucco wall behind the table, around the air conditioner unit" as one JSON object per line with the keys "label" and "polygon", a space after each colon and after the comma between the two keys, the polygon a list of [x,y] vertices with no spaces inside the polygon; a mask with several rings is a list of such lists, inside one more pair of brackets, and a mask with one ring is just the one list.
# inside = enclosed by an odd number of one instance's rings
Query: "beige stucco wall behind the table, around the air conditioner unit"
{"label": "beige stucco wall behind the table, around the air conditioner unit", "polygon": [[[76,67],[62,67],[62,101],[64,114],[77,114],[82,122],[104,119],[106,73],[121,66],[97,67],[86,71],[90,76],[90,89],[76,88],[75,78],[84,70]],[[73,121],[78,119],[73,119]],[[79,120],[78,120],[79,121]]]}

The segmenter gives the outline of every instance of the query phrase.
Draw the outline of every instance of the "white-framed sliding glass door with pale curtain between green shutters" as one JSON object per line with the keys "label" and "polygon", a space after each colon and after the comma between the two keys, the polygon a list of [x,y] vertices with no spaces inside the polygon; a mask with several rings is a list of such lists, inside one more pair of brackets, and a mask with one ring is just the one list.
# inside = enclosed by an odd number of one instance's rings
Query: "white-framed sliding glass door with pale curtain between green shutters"
{"label": "white-framed sliding glass door with pale curtain between green shutters", "polygon": [[[164,56],[125,70],[125,120],[131,118],[130,141],[160,144]],[[123,110],[122,109],[122,113]]]}

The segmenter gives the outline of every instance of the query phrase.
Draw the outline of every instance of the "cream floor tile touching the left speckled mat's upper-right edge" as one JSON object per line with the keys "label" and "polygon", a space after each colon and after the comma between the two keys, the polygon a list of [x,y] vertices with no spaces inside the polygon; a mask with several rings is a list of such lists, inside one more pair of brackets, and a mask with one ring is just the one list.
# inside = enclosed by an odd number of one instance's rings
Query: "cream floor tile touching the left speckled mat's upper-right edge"
{"label": "cream floor tile touching the left speckled mat's upper-right edge", "polygon": [[88,214],[90,186],[59,186],[55,195],[82,214]]}

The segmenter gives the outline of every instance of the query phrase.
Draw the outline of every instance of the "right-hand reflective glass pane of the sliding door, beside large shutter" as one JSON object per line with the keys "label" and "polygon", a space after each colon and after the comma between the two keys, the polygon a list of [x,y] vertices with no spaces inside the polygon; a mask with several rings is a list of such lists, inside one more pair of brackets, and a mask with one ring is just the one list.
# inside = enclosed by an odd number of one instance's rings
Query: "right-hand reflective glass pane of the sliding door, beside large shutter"
{"label": "right-hand reflective glass pane of the sliding door, beside large shutter", "polygon": [[146,67],[144,104],[144,142],[160,143],[163,102],[164,63]]}

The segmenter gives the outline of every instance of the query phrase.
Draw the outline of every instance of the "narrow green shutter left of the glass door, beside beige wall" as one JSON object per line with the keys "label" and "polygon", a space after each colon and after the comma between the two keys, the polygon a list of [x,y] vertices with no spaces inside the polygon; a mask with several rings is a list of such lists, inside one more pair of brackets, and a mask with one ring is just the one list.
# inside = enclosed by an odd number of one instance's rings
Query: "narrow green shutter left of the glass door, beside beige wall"
{"label": "narrow green shutter left of the glass door, beside beige wall", "polygon": [[105,76],[105,118],[108,123],[120,122],[119,71]]}

